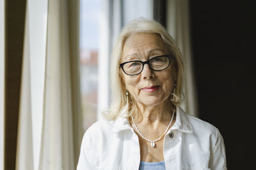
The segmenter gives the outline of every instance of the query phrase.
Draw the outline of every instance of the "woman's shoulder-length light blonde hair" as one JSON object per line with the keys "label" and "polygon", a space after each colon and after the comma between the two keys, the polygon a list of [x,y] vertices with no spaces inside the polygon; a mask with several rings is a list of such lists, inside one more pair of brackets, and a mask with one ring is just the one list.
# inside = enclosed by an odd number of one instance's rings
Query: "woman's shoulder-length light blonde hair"
{"label": "woman's shoulder-length light blonde hair", "polygon": [[103,114],[103,116],[109,120],[115,120],[118,117],[130,117],[131,115],[134,118],[139,117],[139,114],[134,114],[139,112],[138,107],[136,106],[136,101],[131,95],[129,95],[129,106],[127,108],[125,83],[122,80],[122,69],[120,69],[119,64],[121,62],[122,48],[126,39],[132,34],[143,32],[159,34],[164,43],[168,46],[168,48],[170,48],[175,60],[175,69],[177,71],[176,88],[172,94],[173,97],[170,102],[172,102],[172,104],[175,106],[178,106],[182,102],[183,62],[182,54],[178,46],[175,44],[172,36],[170,36],[163,25],[154,20],[138,18],[129,22],[129,24],[122,29],[122,32],[118,36],[118,39],[113,46],[110,66],[112,92],[111,106],[109,111]]}

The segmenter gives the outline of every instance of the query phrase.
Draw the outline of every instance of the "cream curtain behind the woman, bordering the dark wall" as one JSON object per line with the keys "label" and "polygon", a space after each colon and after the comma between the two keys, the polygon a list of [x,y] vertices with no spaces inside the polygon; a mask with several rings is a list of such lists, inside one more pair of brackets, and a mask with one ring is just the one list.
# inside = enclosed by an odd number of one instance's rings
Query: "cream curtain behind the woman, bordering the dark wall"
{"label": "cream curtain behind the woman, bordering the dark wall", "polygon": [[184,54],[185,103],[182,108],[189,114],[198,116],[195,75],[190,46],[189,0],[168,0],[166,18],[168,32],[173,36],[180,50]]}

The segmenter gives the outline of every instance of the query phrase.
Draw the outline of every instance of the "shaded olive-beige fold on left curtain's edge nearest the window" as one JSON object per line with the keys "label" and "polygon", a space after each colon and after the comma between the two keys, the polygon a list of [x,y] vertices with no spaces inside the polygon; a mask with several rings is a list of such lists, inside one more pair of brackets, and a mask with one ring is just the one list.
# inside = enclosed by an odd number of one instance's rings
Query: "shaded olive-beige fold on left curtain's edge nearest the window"
{"label": "shaded olive-beige fold on left curtain's edge nearest the window", "polygon": [[75,166],[79,159],[80,146],[83,138],[83,115],[81,110],[80,88],[80,51],[79,51],[79,0],[68,0],[68,42],[71,75],[72,95],[72,120],[74,135],[74,160]]}

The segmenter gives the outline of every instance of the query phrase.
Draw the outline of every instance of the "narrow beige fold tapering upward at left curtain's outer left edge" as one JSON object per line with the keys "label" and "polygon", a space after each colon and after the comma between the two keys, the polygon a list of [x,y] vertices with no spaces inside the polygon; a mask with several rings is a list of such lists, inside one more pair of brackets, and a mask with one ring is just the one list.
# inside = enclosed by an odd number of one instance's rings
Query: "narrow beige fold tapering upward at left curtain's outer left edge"
{"label": "narrow beige fold tapering upward at left curtain's outer left edge", "polygon": [[[28,16],[28,11],[26,12]],[[20,87],[20,109],[17,137],[16,169],[34,169],[31,111],[31,78],[29,56],[29,27],[25,23],[24,51]]]}

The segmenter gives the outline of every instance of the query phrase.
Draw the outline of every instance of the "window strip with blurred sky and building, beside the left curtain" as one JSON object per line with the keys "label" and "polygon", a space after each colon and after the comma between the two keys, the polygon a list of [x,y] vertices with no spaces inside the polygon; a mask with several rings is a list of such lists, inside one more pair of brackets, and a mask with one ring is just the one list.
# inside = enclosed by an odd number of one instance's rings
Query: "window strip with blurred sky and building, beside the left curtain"
{"label": "window strip with blurred sky and building, beside the left curtain", "polygon": [[97,121],[100,0],[80,1],[80,74],[84,131]]}

